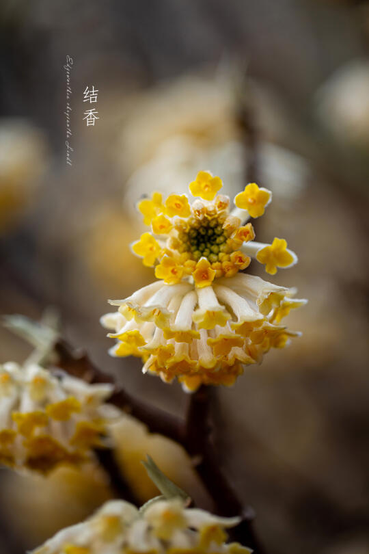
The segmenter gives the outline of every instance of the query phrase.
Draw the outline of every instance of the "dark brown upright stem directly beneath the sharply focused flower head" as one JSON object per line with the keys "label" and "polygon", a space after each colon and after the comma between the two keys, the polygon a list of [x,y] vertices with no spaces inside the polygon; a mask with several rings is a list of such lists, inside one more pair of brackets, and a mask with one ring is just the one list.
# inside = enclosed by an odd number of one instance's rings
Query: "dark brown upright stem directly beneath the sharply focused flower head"
{"label": "dark brown upright stem directly beneath the sharply focused flower head", "polygon": [[202,385],[191,395],[182,443],[191,455],[197,473],[215,502],[217,514],[241,517],[241,523],[230,532],[232,539],[249,546],[255,554],[262,554],[252,523],[255,516],[254,510],[238,499],[217,461],[213,443],[213,425],[210,421],[210,403],[213,395],[215,395],[215,387],[206,385]]}

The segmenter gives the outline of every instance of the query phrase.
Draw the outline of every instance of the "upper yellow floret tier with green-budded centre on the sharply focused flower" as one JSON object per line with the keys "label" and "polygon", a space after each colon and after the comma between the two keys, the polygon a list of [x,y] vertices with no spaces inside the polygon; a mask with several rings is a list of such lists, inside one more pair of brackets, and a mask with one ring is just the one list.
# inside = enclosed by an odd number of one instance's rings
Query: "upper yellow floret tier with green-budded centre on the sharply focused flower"
{"label": "upper yellow floret tier with green-budded centre on the sharply focused flower", "polygon": [[[200,171],[189,189],[202,200],[189,205],[185,194],[171,194],[163,202],[161,194],[154,192],[151,200],[139,202],[143,222],[151,226],[151,233],[143,233],[131,248],[143,258],[144,265],[157,263],[156,278],[174,285],[191,276],[196,287],[206,287],[215,278],[232,277],[249,265],[245,243],[254,241],[255,233],[251,223],[243,224],[243,220],[262,215],[271,192],[250,183],[237,194],[236,210],[230,213],[228,196],[216,196],[221,186],[219,177]],[[266,265],[268,273],[295,262],[282,239],[275,239],[271,246],[255,244],[259,247],[256,259]]]}

